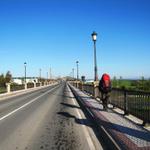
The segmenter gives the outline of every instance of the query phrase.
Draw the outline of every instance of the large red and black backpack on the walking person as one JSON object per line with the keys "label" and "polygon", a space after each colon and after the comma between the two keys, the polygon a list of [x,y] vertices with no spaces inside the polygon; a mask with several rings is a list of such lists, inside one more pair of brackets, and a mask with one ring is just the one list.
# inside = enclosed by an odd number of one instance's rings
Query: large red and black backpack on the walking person
{"label": "large red and black backpack on the walking person", "polygon": [[99,83],[99,89],[102,92],[110,92],[111,91],[111,80],[108,74],[103,74]]}

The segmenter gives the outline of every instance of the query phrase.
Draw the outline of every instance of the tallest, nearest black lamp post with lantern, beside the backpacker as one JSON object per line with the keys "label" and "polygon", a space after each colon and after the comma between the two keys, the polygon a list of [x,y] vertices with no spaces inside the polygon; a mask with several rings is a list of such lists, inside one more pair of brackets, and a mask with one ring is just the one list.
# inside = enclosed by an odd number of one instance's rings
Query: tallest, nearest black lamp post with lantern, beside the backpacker
{"label": "tallest, nearest black lamp post with lantern, beside the backpacker", "polygon": [[97,33],[93,32],[91,35],[92,35],[92,40],[94,42],[94,81],[98,81],[97,59],[96,59],[96,39],[97,39]]}

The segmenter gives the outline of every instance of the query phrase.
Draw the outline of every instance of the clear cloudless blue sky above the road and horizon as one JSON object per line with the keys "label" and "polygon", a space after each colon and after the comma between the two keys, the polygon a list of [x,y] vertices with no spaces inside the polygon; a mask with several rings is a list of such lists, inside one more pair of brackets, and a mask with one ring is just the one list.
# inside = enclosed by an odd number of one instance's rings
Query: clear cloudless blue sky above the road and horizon
{"label": "clear cloudless blue sky above the road and horizon", "polygon": [[150,77],[149,0],[1,0],[0,73],[93,78],[93,31],[99,76]]}

